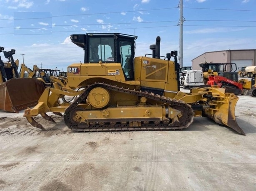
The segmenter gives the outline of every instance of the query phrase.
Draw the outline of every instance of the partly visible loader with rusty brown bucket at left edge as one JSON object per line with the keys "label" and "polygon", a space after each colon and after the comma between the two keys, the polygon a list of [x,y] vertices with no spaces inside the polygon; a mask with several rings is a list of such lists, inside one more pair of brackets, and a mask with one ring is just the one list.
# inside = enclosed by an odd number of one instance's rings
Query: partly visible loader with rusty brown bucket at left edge
{"label": "partly visible loader with rusty brown bucket at left edge", "polygon": [[[0,52],[4,47],[0,47]],[[19,113],[38,104],[45,87],[35,78],[19,78],[18,60],[14,61],[15,50],[4,51],[8,62],[0,56],[0,110]]]}

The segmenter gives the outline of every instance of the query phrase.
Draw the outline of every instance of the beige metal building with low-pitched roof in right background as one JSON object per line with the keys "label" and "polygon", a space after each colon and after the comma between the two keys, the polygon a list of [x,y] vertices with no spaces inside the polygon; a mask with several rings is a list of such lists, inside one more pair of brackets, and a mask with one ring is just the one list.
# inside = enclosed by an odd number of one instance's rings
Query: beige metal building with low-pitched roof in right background
{"label": "beige metal building with low-pitched roof in right background", "polygon": [[256,66],[256,49],[221,50],[205,52],[192,60],[192,69],[201,69],[201,62],[207,63],[236,63],[237,68]]}

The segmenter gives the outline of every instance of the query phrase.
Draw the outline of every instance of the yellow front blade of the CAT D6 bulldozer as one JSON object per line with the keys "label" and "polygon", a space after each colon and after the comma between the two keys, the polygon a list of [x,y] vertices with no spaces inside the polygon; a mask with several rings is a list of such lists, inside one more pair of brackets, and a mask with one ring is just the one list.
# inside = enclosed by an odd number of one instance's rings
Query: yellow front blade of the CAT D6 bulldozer
{"label": "yellow front blade of the CAT D6 bulldozer", "polygon": [[[216,123],[228,126],[236,132],[245,135],[236,122],[235,108],[238,97],[233,93],[225,93],[222,99],[213,99],[210,109],[204,110],[204,115],[213,119]],[[214,107],[213,107],[214,106]]]}

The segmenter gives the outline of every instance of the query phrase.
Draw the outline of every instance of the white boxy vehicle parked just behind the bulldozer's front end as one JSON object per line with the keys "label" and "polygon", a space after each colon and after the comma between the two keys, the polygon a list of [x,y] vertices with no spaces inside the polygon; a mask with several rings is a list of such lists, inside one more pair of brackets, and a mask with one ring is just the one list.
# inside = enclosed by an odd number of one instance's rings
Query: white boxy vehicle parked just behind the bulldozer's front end
{"label": "white boxy vehicle parked just behind the bulldozer's front end", "polygon": [[202,70],[183,70],[180,77],[181,86],[183,89],[199,87],[203,83]]}

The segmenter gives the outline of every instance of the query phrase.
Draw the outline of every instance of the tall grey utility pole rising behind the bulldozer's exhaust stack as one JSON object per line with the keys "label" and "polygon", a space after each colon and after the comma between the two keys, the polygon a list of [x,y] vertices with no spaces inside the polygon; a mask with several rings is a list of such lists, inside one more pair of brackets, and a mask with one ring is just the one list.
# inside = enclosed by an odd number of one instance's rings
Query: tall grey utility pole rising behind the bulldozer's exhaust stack
{"label": "tall grey utility pole rising behind the bulldozer's exhaust stack", "polygon": [[179,54],[179,63],[180,68],[183,67],[183,22],[185,18],[183,17],[183,0],[180,0],[178,7],[180,7],[180,20],[178,25],[180,25],[180,54]]}

